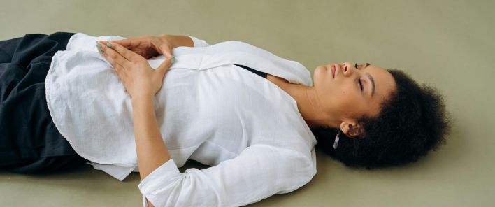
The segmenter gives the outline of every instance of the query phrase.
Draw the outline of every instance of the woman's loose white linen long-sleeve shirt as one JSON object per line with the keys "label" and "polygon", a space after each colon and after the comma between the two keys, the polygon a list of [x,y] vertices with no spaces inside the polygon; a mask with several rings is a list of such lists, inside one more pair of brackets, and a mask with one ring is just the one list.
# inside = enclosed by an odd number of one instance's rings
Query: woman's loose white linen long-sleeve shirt
{"label": "woman's loose white linen long-sleeve shirt", "polygon": [[[72,36],[54,55],[45,87],[53,122],[78,155],[122,180],[138,169],[131,99],[94,46],[115,39],[122,37]],[[316,140],[296,101],[234,64],[311,86],[309,71],[247,43],[192,39],[195,48],[173,50],[176,62],[155,96],[172,159],[141,180],[143,205],[243,206],[308,183]],[[163,61],[148,59],[152,67]],[[189,159],[211,167],[180,173]]]}

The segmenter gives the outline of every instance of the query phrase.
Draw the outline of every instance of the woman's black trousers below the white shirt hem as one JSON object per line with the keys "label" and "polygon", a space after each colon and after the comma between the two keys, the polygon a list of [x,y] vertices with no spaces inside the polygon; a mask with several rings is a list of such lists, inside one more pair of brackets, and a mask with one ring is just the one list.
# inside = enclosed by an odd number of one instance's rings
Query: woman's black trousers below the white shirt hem
{"label": "woman's black trousers below the white shirt hem", "polygon": [[51,173],[87,162],[57,131],[45,97],[52,56],[66,49],[72,35],[0,41],[0,170]]}

